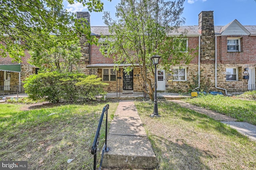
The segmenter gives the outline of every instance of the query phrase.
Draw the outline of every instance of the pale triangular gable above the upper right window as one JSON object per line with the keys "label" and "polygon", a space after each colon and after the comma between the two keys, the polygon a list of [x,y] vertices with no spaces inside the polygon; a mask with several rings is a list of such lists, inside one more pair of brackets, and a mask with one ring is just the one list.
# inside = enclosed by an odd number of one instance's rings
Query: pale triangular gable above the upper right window
{"label": "pale triangular gable above the upper right window", "polygon": [[238,20],[234,20],[220,29],[221,35],[250,35],[250,32]]}

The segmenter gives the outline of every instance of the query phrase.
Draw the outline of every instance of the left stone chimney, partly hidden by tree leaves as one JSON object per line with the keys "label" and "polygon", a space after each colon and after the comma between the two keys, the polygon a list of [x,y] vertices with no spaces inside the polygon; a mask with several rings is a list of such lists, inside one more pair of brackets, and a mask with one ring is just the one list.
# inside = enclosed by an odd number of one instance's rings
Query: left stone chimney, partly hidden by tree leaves
{"label": "left stone chimney, partly hidden by tree leaves", "polygon": [[[76,12],[76,18],[84,18],[88,21],[90,26],[90,14],[89,12]],[[79,61],[79,70],[85,74],[89,74],[88,68],[86,66],[90,64],[90,44],[87,42],[87,39],[84,35],[79,37],[80,48],[82,57]]]}

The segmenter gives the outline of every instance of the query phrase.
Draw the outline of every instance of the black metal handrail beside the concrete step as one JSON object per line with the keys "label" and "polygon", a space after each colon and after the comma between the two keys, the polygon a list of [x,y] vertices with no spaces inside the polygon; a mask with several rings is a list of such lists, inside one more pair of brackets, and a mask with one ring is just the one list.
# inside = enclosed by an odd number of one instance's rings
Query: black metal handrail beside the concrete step
{"label": "black metal handrail beside the concrete step", "polygon": [[104,113],[106,113],[106,130],[105,130],[105,144],[103,146],[104,149],[102,149],[102,156],[101,156],[101,160],[100,160],[100,167],[99,170],[101,169],[101,165],[102,165],[102,160],[103,160],[103,156],[104,156],[104,152],[108,152],[109,148],[107,147],[107,133],[108,133],[108,109],[109,109],[109,104],[106,104],[105,107],[103,107],[102,109],[102,113],[100,116],[100,121],[99,121],[99,125],[96,131],[96,135],[92,144],[92,150],[91,153],[94,155],[94,162],[93,162],[93,169],[96,170],[96,166],[97,166],[97,147],[99,145],[99,141],[98,138],[100,137],[100,129],[101,129],[101,125],[102,125],[102,121],[103,121],[103,117],[104,117]]}

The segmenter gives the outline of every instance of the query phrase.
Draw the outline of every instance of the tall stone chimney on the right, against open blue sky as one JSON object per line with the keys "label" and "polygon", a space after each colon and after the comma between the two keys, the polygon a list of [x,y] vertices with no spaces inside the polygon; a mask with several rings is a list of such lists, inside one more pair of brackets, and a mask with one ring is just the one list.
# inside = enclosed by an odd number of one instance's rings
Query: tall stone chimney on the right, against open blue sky
{"label": "tall stone chimney on the right, against open blue sky", "polygon": [[202,11],[198,16],[198,32],[201,33],[201,61],[214,61],[215,33],[213,11]]}

